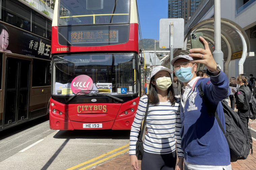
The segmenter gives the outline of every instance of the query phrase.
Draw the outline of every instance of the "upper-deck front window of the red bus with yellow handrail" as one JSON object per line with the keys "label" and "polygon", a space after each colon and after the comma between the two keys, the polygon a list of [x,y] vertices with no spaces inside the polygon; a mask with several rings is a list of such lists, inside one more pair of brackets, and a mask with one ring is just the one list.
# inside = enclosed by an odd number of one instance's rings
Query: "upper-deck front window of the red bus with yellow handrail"
{"label": "upper-deck front window of the red bus with yellow handrail", "polygon": [[60,0],[59,25],[129,22],[129,0]]}

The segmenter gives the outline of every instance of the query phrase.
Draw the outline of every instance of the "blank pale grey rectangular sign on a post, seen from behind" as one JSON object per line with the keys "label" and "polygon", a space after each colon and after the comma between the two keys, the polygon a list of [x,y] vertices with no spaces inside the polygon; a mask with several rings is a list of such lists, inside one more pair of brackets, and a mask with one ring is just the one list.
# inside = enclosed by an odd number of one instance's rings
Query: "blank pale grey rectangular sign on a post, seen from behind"
{"label": "blank pale grey rectangular sign on a post, seen from behind", "polygon": [[173,22],[173,48],[184,46],[184,19],[168,18],[160,19],[159,47],[170,48],[170,23]]}

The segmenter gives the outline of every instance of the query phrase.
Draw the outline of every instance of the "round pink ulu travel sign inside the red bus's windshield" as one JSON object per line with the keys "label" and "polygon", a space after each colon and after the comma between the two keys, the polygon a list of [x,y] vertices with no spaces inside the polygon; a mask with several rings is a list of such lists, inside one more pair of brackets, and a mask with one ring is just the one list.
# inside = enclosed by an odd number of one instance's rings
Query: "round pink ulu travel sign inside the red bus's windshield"
{"label": "round pink ulu travel sign inside the red bus's windshield", "polygon": [[[71,90],[73,93],[78,93],[79,91],[92,90],[93,81],[88,75],[78,75],[71,82]],[[90,91],[86,91],[89,93]]]}

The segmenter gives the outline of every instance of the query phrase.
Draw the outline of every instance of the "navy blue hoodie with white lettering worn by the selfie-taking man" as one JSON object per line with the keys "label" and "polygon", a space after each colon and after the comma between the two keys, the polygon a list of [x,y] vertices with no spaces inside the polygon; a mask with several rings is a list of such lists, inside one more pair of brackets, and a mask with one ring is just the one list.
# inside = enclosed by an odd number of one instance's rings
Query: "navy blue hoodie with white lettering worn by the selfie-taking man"
{"label": "navy blue hoodie with white lettering worn by the selfie-taking man", "polygon": [[225,129],[224,113],[220,101],[229,96],[230,90],[227,76],[221,71],[217,76],[199,78],[193,91],[190,91],[184,108],[181,106],[180,135],[184,158],[187,162],[197,165],[229,165],[230,154],[227,140],[215,117],[208,115],[202,103],[197,88],[201,82],[204,95],[214,108],[217,107],[216,112]]}

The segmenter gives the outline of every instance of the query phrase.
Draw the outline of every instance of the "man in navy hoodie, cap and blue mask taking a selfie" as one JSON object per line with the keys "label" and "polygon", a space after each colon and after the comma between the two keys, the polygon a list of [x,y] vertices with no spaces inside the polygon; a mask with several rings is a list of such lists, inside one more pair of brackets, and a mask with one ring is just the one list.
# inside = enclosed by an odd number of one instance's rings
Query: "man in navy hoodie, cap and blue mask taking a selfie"
{"label": "man in navy hoodie, cap and blue mask taking a selfie", "polygon": [[[202,37],[199,39],[203,42],[205,50],[190,49],[191,54],[175,57],[171,61],[175,75],[184,84],[180,109],[180,136],[184,156],[179,157],[178,165],[184,161],[184,170],[231,170],[227,140],[215,116],[207,112],[198,91],[201,84],[205,97],[216,108],[225,130],[221,101],[230,94],[228,78],[215,62],[208,43]],[[192,57],[199,57],[201,60],[193,60]],[[206,66],[206,74],[210,78],[196,77],[196,63]]]}

